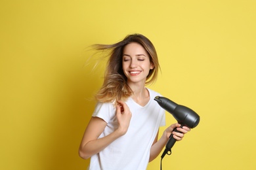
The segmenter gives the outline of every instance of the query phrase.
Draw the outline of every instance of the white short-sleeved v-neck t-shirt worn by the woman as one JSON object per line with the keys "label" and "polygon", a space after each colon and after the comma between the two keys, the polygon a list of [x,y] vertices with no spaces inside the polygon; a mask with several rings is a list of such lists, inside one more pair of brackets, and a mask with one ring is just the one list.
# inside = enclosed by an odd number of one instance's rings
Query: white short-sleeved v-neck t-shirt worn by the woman
{"label": "white short-sleeved v-neck t-shirt worn by the woman", "polygon": [[[144,170],[150,158],[150,148],[160,126],[165,126],[165,110],[154,97],[160,95],[153,90],[150,101],[142,107],[131,97],[125,102],[132,117],[125,135],[119,137],[98,154],[91,156],[90,170]],[[116,107],[113,103],[97,103],[93,116],[102,118],[107,126],[98,138],[105,137],[117,128]]]}

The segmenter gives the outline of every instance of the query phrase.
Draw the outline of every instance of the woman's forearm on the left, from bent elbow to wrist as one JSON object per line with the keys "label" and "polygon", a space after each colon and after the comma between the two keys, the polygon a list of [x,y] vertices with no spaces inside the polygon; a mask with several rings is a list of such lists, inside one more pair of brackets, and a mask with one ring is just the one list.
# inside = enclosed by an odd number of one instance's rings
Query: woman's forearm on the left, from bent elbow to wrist
{"label": "woman's forearm on the left, from bent elbow to wrist", "polygon": [[88,143],[79,147],[79,156],[83,159],[88,159],[106,148],[106,146],[115,141],[121,135],[122,133],[119,130],[116,130],[113,133],[107,135],[106,137],[89,141]]}

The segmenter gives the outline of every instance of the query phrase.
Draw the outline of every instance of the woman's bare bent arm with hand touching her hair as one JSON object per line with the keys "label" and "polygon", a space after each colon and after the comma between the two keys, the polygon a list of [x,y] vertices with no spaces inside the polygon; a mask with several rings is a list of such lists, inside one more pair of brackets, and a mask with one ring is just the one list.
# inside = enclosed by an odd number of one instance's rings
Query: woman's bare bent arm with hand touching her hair
{"label": "woman's bare bent arm with hand touching her hair", "polygon": [[[127,132],[129,122],[131,120],[131,112],[125,103],[121,101],[118,103],[119,105],[116,107],[116,116],[119,126],[114,132],[110,133],[106,137],[98,139],[102,131],[104,131],[107,123],[98,117],[91,118],[79,146],[79,156],[81,158],[90,158]],[[121,112],[120,106],[123,107],[123,112]]]}

